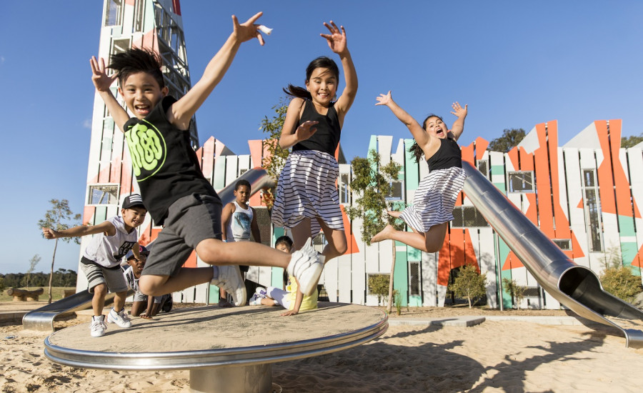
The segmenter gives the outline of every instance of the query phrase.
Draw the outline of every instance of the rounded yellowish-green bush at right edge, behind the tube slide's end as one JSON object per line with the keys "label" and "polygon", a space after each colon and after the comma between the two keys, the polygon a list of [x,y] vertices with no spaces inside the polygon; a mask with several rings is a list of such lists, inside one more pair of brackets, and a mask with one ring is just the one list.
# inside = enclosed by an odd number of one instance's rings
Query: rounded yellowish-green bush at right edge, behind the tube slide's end
{"label": "rounded yellowish-green bush at right edge, behind the tube slide's end", "polygon": [[601,285],[610,294],[625,302],[632,302],[643,292],[641,277],[632,274],[632,267],[623,266],[619,247],[609,247],[602,257],[603,272],[599,276]]}

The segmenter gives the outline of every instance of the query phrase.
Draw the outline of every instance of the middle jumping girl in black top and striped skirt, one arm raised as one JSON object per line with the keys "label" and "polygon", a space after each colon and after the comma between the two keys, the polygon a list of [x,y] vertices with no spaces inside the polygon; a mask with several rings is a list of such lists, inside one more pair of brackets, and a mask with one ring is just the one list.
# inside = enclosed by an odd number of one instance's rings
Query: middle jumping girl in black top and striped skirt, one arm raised
{"label": "middle jumping girl in black top and striped skirt, one arm raised", "polygon": [[[357,94],[357,72],[347,47],[346,31],[330,21],[330,34],[320,34],[330,49],[339,54],[346,86],[337,101],[339,69],[328,57],[311,61],[306,68],[306,87],[288,85],[291,99],[281,129],[279,146],[292,147],[279,174],[272,222],[291,229],[293,249],[324,231],[328,241],[321,252],[329,259],[344,254],[347,241],[335,182],[339,166],[334,158],[344,116]],[[295,313],[296,314],[296,313]]]}

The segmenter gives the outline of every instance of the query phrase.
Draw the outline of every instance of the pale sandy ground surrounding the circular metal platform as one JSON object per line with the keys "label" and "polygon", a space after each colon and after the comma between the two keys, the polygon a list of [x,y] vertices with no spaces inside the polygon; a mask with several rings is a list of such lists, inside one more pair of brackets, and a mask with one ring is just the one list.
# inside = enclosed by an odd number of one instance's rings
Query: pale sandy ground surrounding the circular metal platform
{"label": "pale sandy ground surrounding the circular metal platform", "polygon": [[[424,307],[389,320],[479,314],[566,315]],[[266,323],[266,332],[278,334],[284,318]],[[162,341],[166,333],[152,322],[150,334]],[[67,319],[56,322],[56,329],[87,323]],[[640,392],[643,349],[626,348],[616,329],[593,327],[492,320],[474,327],[390,326],[359,347],[274,363],[273,382],[282,392]],[[23,330],[18,322],[0,324],[1,392],[189,392],[187,370],[121,372],[54,364],[44,356],[48,335]]]}

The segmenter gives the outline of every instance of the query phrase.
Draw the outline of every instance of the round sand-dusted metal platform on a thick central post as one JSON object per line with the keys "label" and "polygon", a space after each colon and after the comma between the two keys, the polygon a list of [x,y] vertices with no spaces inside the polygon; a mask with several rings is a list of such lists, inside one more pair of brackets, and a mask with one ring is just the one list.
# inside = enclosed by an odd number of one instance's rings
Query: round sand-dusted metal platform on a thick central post
{"label": "round sand-dusted metal platform on a thick central post", "polygon": [[387,315],[356,304],[281,317],[279,307],[199,307],[109,324],[91,337],[88,324],[45,339],[45,356],[72,367],[118,370],[189,369],[193,392],[270,392],[271,363],[355,347],[388,329]]}

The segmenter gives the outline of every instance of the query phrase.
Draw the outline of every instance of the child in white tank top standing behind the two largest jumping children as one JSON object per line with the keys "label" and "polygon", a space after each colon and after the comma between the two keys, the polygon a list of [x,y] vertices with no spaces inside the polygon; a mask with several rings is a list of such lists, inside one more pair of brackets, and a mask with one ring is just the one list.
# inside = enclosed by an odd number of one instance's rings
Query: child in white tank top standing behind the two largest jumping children
{"label": "child in white tank top standing behind the two largest jumping children", "polygon": [[[249,242],[250,236],[254,241],[261,243],[259,224],[256,223],[256,213],[248,206],[250,199],[250,182],[239,180],[234,184],[234,197],[236,200],[224,206],[221,213],[221,236],[225,242]],[[248,272],[248,266],[239,265],[241,272]],[[219,307],[232,307],[226,299],[226,291],[219,291]]]}

